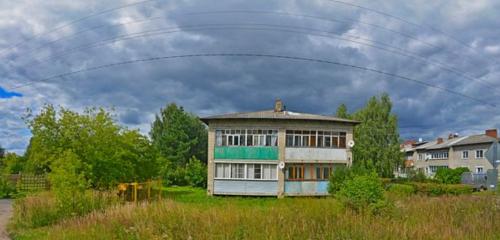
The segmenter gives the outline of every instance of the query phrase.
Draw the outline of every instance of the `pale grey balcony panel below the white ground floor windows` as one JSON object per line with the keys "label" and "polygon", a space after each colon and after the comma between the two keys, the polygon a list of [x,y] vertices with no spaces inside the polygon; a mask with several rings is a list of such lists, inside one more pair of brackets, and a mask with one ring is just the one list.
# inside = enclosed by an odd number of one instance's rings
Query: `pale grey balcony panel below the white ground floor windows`
{"label": "pale grey balcony panel below the white ground floor windows", "polygon": [[277,196],[276,180],[214,180],[214,194]]}

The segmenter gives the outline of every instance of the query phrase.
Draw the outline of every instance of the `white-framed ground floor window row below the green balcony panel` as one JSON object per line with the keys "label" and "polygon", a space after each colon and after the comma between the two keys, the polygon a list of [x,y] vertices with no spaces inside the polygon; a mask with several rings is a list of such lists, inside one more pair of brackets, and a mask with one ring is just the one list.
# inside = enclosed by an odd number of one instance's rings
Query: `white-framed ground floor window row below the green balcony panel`
{"label": "white-framed ground floor window row below the green balcony panel", "polygon": [[277,164],[215,163],[216,179],[277,180]]}

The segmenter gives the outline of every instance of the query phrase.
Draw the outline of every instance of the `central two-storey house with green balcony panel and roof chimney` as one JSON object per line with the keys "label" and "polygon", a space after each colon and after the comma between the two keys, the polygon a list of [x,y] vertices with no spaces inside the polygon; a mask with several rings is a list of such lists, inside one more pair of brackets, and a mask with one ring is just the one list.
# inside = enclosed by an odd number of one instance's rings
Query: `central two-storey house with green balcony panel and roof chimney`
{"label": "central two-storey house with green balcony panel and roof chimney", "polygon": [[357,121],[274,110],[201,118],[208,125],[208,194],[327,195],[328,178],[350,165]]}

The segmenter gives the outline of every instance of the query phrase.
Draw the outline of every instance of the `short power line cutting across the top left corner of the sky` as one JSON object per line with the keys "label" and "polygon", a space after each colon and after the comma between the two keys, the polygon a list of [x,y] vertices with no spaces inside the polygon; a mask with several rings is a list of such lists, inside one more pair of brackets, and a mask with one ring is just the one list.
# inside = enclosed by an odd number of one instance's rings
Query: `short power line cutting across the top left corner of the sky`
{"label": "short power line cutting across the top left corner of the sky", "polygon": [[144,1],[140,1],[140,2],[134,2],[134,3],[124,4],[124,5],[120,5],[120,6],[117,6],[117,7],[109,8],[109,9],[106,9],[106,10],[103,10],[103,11],[99,11],[99,12],[96,12],[96,13],[92,13],[90,15],[86,15],[86,16],[83,16],[81,18],[77,18],[77,19],[72,20],[70,22],[67,22],[67,23],[64,23],[62,25],[59,25],[59,26],[57,26],[55,28],[49,29],[49,30],[47,30],[45,32],[36,34],[36,35],[32,36],[31,38],[21,40],[21,41],[13,44],[11,46],[3,48],[3,49],[0,50],[0,54],[3,53],[3,52],[5,52],[5,51],[7,51],[7,50],[12,49],[12,48],[18,47],[18,46],[20,46],[20,45],[22,45],[22,44],[24,44],[26,42],[34,40],[34,39],[38,38],[39,36],[56,32],[56,31],[61,30],[63,28],[66,28],[66,27],[69,27],[71,25],[75,25],[75,24],[77,24],[79,22],[85,21],[86,19],[93,18],[93,17],[96,17],[96,16],[100,16],[100,15],[103,15],[103,14],[106,14],[106,13],[114,12],[114,11],[117,11],[117,10],[121,10],[121,9],[124,9],[124,8],[132,7],[132,6],[137,6],[137,5],[140,5],[140,4],[154,2],[154,1],[158,1],[158,0],[144,0]]}

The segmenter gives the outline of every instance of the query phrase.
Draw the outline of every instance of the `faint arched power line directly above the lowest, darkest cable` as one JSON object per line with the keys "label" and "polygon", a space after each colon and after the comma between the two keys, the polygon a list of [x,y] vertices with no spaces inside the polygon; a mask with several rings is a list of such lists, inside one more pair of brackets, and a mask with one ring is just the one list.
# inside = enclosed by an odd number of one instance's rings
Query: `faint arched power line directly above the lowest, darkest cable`
{"label": "faint arched power line directly above the lowest, darkest cable", "polygon": [[[255,26],[257,26],[257,27],[255,27]],[[267,28],[259,28],[259,27],[267,27]],[[148,31],[143,31],[143,32],[136,32],[136,33],[131,33],[131,34],[124,34],[124,35],[115,36],[115,37],[112,37],[112,38],[100,40],[100,41],[93,42],[93,43],[80,45],[80,46],[77,46],[75,48],[71,48],[71,49],[68,49],[68,50],[56,52],[56,55],[50,56],[50,57],[45,58],[45,59],[42,59],[43,61],[39,62],[38,64],[41,64],[43,62],[47,62],[49,60],[53,60],[53,59],[56,59],[56,58],[67,56],[67,55],[69,55],[69,54],[71,54],[73,52],[76,52],[76,51],[88,50],[88,49],[91,49],[91,48],[94,48],[94,47],[104,46],[104,45],[107,45],[107,44],[110,44],[110,43],[116,43],[118,41],[124,41],[124,40],[131,40],[131,39],[135,39],[135,38],[151,37],[151,36],[156,36],[156,35],[163,35],[163,34],[183,32],[183,31],[185,31],[185,29],[189,29],[189,30],[201,30],[201,31],[232,30],[232,29],[236,29],[236,30],[277,31],[277,32],[298,33],[298,34],[315,35],[315,36],[320,36],[320,37],[333,38],[333,39],[338,39],[338,40],[342,40],[342,41],[347,41],[347,42],[352,42],[352,43],[356,43],[356,44],[368,46],[368,47],[375,48],[375,49],[378,49],[378,50],[381,50],[381,51],[385,51],[385,52],[389,52],[389,53],[392,53],[392,54],[396,54],[396,55],[400,55],[400,56],[404,56],[404,57],[408,57],[408,58],[412,58],[412,59],[417,59],[417,60],[419,60],[421,62],[425,62],[425,63],[427,63],[429,65],[437,66],[437,67],[441,68],[442,70],[445,70],[445,71],[448,71],[448,72],[451,72],[451,73],[455,73],[458,76],[461,76],[463,78],[466,78],[466,79],[469,79],[469,80],[472,80],[472,81],[481,82],[481,83],[483,83],[487,87],[493,87],[489,82],[481,80],[481,79],[478,79],[478,78],[471,77],[471,76],[467,75],[466,73],[461,72],[461,71],[457,70],[456,68],[454,68],[452,66],[449,66],[449,65],[447,65],[445,63],[426,59],[424,56],[420,56],[417,53],[414,53],[414,52],[411,52],[411,51],[407,51],[407,50],[399,48],[399,47],[394,47],[394,46],[391,46],[389,44],[385,44],[385,43],[382,43],[382,42],[374,41],[374,40],[371,40],[371,39],[362,38],[362,37],[359,37],[359,36],[356,36],[356,35],[351,35],[351,34],[344,34],[344,35],[342,35],[344,37],[335,37],[335,36],[331,36],[331,35],[338,35],[338,34],[336,34],[334,32],[322,31],[322,30],[313,29],[313,28],[303,28],[303,27],[287,26],[287,25],[276,25],[276,24],[255,24],[255,23],[244,23],[244,24],[199,24],[199,25],[186,25],[186,26],[177,26],[177,27],[167,27],[167,28],[160,28],[160,29],[148,30]],[[294,29],[299,29],[299,30],[302,30],[302,31],[297,31],[297,30],[294,30]],[[315,34],[315,33],[306,32],[306,31],[326,33],[326,34],[329,34],[329,35]],[[349,38],[346,38],[346,37],[349,37]],[[362,41],[365,41],[365,42],[361,42],[359,40],[362,40]],[[369,42],[369,43],[366,43],[366,42]],[[377,46],[377,45],[374,45],[374,44],[371,44],[371,43],[382,45],[382,46],[385,46],[385,47],[380,47],[380,46]],[[40,59],[38,61],[40,61]],[[36,65],[38,65],[38,64],[36,64]]]}

